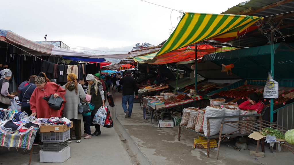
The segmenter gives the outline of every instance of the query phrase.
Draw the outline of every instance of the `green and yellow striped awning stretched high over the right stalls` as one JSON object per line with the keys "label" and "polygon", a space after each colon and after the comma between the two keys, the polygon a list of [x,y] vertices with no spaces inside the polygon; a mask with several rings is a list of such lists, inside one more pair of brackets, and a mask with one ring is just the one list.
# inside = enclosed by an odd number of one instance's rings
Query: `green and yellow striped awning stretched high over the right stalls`
{"label": "green and yellow striped awning stretched high over the right stalls", "polygon": [[209,39],[237,37],[238,32],[242,33],[261,18],[186,12],[156,56]]}

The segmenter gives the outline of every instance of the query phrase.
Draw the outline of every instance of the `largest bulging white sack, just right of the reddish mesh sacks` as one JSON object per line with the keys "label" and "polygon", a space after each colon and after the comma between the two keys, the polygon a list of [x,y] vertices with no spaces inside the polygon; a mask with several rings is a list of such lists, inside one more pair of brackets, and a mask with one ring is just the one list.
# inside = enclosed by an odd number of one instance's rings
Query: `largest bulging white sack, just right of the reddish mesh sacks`
{"label": "largest bulging white sack, just right of the reddish mesh sacks", "polygon": [[[203,132],[204,135],[207,136],[207,118],[206,117],[221,117],[225,113],[224,109],[218,109],[213,107],[206,107],[206,111],[204,114],[203,120]],[[209,119],[210,124],[210,132],[209,135],[213,136],[220,132],[220,122],[223,121],[223,118],[220,119]]]}

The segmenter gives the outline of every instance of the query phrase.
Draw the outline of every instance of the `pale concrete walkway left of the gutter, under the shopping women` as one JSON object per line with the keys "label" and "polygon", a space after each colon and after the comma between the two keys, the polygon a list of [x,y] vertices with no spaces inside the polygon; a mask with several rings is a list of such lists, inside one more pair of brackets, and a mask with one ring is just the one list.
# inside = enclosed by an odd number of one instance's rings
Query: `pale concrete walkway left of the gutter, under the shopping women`
{"label": "pale concrete walkway left of the gutter, under the shopping women", "polygon": [[[106,101],[106,105],[108,102]],[[95,131],[94,127],[91,127],[91,132]],[[83,122],[82,122],[83,132]],[[71,157],[63,164],[132,164],[128,153],[124,149],[121,140],[119,139],[114,128],[105,128],[101,126],[101,135],[93,137],[91,139],[81,139],[81,143],[76,143],[76,140],[72,140],[70,146]],[[43,145],[34,146],[33,156],[31,164],[35,165],[58,165],[60,163],[40,163],[39,151]],[[2,164],[28,164],[30,151],[24,151],[23,149],[15,149],[7,147],[0,147],[0,165]]]}

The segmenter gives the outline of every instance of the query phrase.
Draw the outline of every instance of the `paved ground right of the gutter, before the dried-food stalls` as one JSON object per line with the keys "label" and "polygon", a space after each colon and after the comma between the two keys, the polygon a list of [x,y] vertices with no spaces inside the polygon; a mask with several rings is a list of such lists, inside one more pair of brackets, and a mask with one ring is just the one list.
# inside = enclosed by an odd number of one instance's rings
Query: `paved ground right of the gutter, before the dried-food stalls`
{"label": "paved ground right of the gutter, before the dried-food stalls", "polygon": [[[210,159],[206,158],[206,149],[194,149],[193,139],[197,135],[184,128],[181,141],[178,141],[178,126],[173,128],[157,127],[156,120],[143,119],[143,110],[139,103],[133,107],[132,118],[124,118],[121,104],[121,93],[116,93],[116,115],[126,131],[131,135],[141,151],[149,161],[156,165],[192,165],[192,164],[217,164],[217,165],[241,165],[241,164],[293,164],[294,155],[291,152],[270,153],[265,149],[265,157],[250,156],[250,150],[255,150],[256,145],[249,144],[249,150],[236,151],[228,147],[235,143],[221,144],[219,159],[216,160],[216,150],[212,149]],[[261,149],[260,149],[261,151]]]}

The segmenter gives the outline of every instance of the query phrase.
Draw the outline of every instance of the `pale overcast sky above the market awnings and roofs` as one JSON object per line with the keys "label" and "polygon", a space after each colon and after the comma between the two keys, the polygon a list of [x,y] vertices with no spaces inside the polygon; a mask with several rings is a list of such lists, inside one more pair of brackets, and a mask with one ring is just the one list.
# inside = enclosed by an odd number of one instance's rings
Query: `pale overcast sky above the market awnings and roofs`
{"label": "pale overcast sky above the market awnings and roofs", "polygon": [[[184,12],[219,14],[245,0],[146,1]],[[158,45],[180,20],[178,11],[141,0],[9,0],[1,6],[0,29],[32,41],[44,41],[47,34],[47,41],[94,50],[127,52],[136,43]]]}

